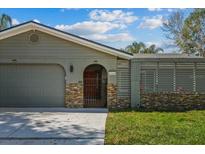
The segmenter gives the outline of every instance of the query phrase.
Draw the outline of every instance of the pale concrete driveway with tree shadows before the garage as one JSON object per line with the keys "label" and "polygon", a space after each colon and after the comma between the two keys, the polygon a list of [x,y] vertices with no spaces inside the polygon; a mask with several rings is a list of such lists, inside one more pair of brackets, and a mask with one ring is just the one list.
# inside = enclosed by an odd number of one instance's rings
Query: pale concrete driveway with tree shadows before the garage
{"label": "pale concrete driveway with tree shadows before the garage", "polygon": [[0,144],[104,144],[107,109],[0,108]]}

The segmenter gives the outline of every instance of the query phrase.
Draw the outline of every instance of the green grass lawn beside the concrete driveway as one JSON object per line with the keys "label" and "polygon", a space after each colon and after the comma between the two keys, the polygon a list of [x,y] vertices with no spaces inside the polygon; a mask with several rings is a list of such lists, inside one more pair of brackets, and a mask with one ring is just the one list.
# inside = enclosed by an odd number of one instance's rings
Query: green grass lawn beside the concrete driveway
{"label": "green grass lawn beside the concrete driveway", "polygon": [[105,144],[205,144],[205,110],[111,111]]}

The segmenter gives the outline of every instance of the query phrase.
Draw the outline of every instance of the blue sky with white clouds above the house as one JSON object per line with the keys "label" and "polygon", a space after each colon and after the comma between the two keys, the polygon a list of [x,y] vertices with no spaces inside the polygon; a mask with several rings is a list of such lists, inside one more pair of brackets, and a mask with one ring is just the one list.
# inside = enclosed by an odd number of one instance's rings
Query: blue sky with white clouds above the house
{"label": "blue sky with white clouds above the house", "polygon": [[69,33],[106,44],[114,48],[125,48],[133,41],[147,46],[156,44],[165,53],[177,52],[172,41],[166,39],[162,22],[174,11],[187,16],[193,9],[135,8],[135,9],[77,9],[77,8],[28,8],[0,9],[12,17],[13,25],[34,20]]}

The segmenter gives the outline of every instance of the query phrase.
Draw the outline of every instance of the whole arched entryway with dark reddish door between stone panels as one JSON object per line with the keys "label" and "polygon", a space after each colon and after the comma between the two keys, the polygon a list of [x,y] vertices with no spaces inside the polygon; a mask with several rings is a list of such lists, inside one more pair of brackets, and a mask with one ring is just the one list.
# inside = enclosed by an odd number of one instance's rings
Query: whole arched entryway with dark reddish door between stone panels
{"label": "whole arched entryway with dark reddish door between stone panels", "polygon": [[84,70],[84,107],[107,106],[107,72],[99,64]]}

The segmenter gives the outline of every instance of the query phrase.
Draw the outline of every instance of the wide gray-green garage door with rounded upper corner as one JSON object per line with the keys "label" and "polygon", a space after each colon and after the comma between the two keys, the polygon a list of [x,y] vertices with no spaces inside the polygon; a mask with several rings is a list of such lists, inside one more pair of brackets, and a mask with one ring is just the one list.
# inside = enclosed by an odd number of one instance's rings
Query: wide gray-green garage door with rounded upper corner
{"label": "wide gray-green garage door with rounded upper corner", "polygon": [[0,65],[0,107],[62,107],[64,79],[58,65]]}

